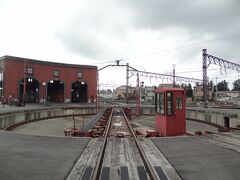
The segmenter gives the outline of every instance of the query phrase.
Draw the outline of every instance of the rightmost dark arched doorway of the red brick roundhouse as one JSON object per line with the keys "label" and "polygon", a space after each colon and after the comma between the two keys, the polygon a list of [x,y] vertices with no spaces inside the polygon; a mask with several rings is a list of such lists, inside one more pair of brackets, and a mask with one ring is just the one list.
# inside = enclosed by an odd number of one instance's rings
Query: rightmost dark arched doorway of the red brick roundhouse
{"label": "rightmost dark arched doorway of the red brick roundhouse", "polygon": [[72,84],[72,102],[87,102],[87,84],[83,81],[75,81]]}

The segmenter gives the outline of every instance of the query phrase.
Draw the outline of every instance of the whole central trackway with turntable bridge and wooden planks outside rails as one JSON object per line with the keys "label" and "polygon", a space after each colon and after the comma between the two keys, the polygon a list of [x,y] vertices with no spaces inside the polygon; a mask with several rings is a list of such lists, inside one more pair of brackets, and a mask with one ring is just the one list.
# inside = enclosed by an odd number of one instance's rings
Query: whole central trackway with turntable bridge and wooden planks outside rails
{"label": "whole central trackway with turntable bridge and wooden planks outside rails", "polygon": [[109,107],[67,180],[180,180],[154,143],[136,137],[124,110]]}

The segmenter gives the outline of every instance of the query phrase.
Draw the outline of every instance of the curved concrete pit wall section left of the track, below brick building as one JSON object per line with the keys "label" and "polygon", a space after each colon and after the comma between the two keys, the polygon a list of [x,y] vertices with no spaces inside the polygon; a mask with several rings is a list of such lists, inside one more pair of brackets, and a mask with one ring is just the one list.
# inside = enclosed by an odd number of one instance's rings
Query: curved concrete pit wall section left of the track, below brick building
{"label": "curved concrete pit wall section left of the track, below brick building", "polygon": [[72,115],[94,115],[96,108],[67,108],[67,109],[50,109],[50,110],[32,110],[17,113],[10,113],[0,116],[0,129],[8,129],[17,124],[24,124],[31,121],[51,119],[57,117],[67,117]]}

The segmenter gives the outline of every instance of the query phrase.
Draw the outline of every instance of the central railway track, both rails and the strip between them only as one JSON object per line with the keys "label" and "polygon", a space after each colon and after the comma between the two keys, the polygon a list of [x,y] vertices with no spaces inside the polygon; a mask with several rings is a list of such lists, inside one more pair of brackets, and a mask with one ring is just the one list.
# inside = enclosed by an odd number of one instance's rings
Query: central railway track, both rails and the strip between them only
{"label": "central railway track, both rails and the strip between them only", "polygon": [[[122,108],[111,109],[103,139],[91,179],[159,179]],[[122,156],[118,156],[120,149]],[[130,156],[133,160],[128,159]]]}

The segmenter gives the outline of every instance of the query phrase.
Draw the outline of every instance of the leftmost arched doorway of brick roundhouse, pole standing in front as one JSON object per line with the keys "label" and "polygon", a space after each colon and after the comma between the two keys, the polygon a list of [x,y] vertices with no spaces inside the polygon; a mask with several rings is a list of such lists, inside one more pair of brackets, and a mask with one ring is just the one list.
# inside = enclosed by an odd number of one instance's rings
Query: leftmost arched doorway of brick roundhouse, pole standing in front
{"label": "leftmost arched doorway of brick roundhouse, pole standing in front", "polygon": [[[34,78],[26,78],[26,95],[25,102],[35,103],[39,101],[39,82]],[[20,81],[19,101],[23,102],[24,79]]]}

